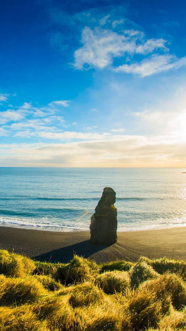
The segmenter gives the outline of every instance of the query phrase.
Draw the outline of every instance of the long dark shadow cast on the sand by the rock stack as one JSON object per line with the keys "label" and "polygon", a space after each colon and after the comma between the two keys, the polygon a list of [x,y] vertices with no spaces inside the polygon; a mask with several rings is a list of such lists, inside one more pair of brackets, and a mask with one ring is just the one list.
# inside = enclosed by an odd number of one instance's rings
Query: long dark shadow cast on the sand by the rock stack
{"label": "long dark shadow cast on the sand by the rock stack", "polygon": [[34,259],[38,261],[50,261],[50,262],[63,262],[67,263],[73,259],[74,254],[88,258],[93,253],[102,251],[106,245],[93,245],[90,240],[84,240],[80,243],[62,247],[50,252],[43,253],[35,256]]}

